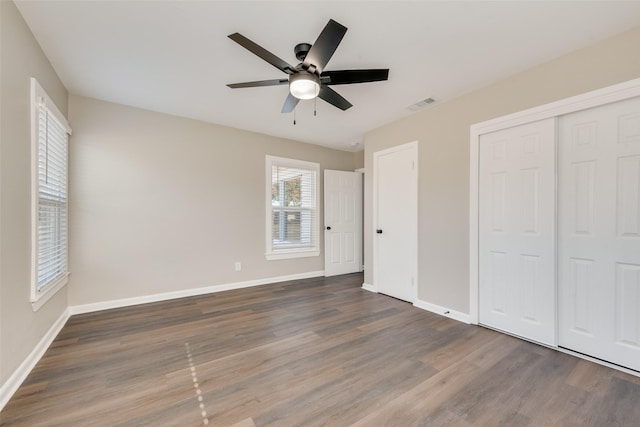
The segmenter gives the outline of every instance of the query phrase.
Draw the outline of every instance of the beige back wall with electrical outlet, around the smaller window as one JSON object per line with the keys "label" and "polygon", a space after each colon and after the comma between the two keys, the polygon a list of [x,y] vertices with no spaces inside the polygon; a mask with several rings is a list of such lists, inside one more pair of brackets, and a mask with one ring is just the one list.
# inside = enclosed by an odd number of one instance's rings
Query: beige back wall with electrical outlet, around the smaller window
{"label": "beige back wall with electrical outlet, around the smaller window", "polygon": [[77,96],[69,119],[70,305],[324,269],[265,259],[265,155],[354,153]]}

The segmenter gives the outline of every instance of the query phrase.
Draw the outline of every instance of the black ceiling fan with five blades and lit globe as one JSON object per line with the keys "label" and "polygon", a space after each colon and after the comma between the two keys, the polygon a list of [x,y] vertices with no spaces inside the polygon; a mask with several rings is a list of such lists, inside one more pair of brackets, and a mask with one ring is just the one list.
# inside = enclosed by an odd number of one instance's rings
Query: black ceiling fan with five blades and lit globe
{"label": "black ceiling fan with five blades and lit globe", "polygon": [[278,70],[288,74],[288,77],[284,79],[233,83],[227,86],[232,89],[238,89],[288,84],[289,95],[282,106],[283,113],[292,112],[301,99],[313,99],[315,97],[323,99],[343,111],[351,108],[351,103],[329,86],[387,80],[389,77],[389,69],[324,71],[324,67],[333,56],[333,53],[338,48],[346,32],[347,27],[330,19],[313,45],[300,43],[295,46],[294,53],[296,58],[302,61],[296,66],[288,64],[286,61],[278,58],[242,34],[233,33],[229,35],[231,40],[264,59]]}

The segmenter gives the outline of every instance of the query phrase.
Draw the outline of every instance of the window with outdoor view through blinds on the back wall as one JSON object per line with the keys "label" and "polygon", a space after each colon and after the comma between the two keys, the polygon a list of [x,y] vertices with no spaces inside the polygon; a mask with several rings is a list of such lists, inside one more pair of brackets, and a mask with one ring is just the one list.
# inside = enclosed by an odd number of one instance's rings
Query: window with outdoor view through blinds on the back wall
{"label": "window with outdoor view through blinds on the back wall", "polygon": [[318,163],[267,156],[267,259],[320,255]]}

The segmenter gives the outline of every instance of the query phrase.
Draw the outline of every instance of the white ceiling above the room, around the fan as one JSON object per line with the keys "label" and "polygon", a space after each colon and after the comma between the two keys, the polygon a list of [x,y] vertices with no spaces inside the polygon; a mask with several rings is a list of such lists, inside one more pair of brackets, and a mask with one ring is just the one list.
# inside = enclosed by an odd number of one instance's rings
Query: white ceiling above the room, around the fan
{"label": "white ceiling above the room, around the fan", "polygon": [[[640,1],[16,1],[70,93],[340,148],[365,132],[640,26]],[[332,18],[348,31],[327,70],[390,68],[389,80],[333,86],[281,114],[286,86],[226,83],[286,75],[227,38],[285,61]],[[631,52],[630,52],[631,54]]]}

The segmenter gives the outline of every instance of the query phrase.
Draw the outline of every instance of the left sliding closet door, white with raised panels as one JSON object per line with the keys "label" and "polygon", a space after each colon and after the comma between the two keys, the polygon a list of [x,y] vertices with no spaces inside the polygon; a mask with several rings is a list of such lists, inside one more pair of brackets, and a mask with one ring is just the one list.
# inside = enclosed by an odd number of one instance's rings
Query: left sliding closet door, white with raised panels
{"label": "left sliding closet door, white with raised panels", "polygon": [[555,345],[555,119],[480,138],[479,320]]}

